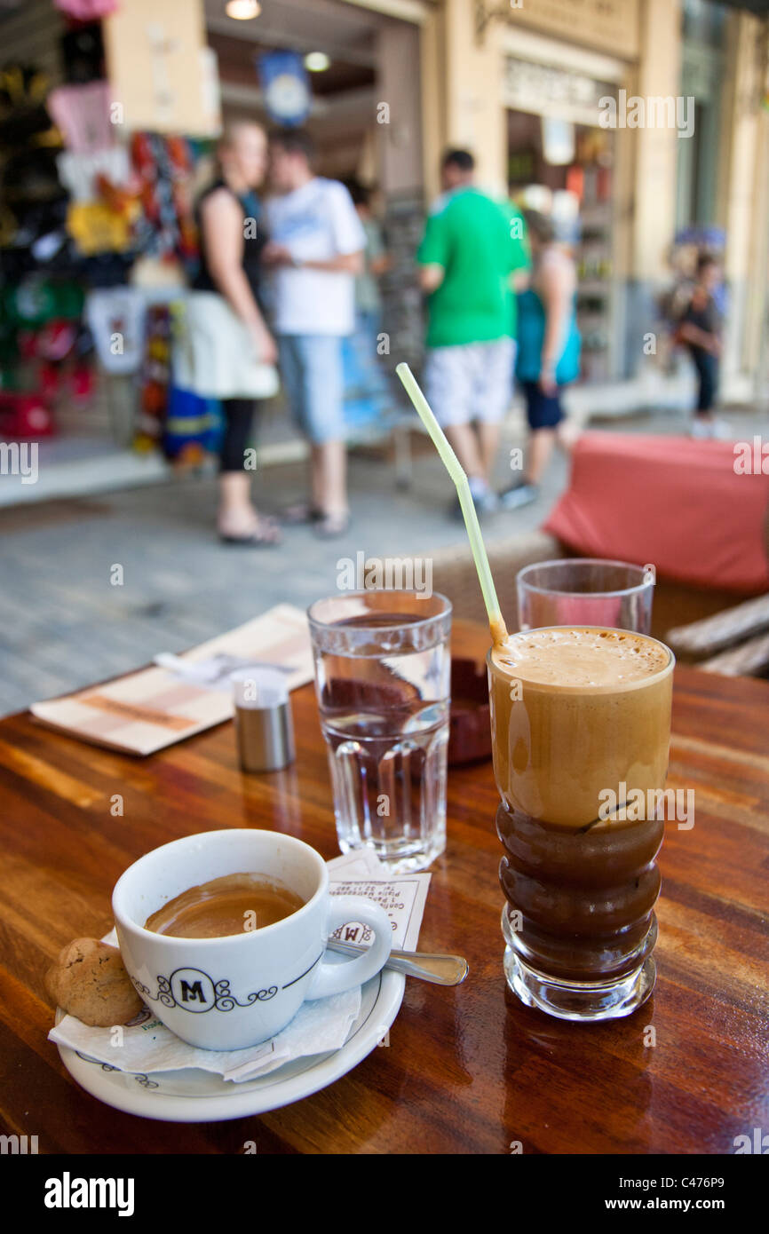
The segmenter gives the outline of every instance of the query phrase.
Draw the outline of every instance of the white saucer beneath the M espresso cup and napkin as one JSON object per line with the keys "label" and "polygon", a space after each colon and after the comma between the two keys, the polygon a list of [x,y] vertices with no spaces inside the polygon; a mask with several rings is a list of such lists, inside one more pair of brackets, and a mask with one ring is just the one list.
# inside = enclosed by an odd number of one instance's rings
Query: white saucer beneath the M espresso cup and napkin
{"label": "white saucer beneath the M espresso cup and napkin", "polygon": [[[269,1075],[233,1083],[200,1067],[152,1075],[117,1071],[65,1045],[57,1049],[70,1076],[115,1109],[169,1123],[216,1123],[290,1106],[352,1071],[376,1049],[404,998],[406,979],[383,969],[360,990],[360,1014],[339,1050],[286,1062]],[[57,1024],[64,1013],[57,1011]]]}

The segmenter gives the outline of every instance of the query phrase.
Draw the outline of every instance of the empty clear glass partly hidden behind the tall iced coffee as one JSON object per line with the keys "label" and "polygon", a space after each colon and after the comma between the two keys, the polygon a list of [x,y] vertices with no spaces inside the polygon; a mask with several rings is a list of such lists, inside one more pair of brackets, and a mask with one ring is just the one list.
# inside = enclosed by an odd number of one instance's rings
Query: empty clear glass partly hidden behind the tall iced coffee
{"label": "empty clear glass partly hidden behind the tall iced coffee", "polygon": [[537,561],[518,570],[518,628],[613,626],[652,629],[654,568],[589,557]]}

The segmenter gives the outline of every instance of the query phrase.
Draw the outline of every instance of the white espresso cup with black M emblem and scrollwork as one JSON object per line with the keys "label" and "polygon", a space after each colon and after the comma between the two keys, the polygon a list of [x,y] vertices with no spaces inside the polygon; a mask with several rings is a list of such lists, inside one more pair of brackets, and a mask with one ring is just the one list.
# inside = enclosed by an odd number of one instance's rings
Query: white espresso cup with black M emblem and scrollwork
{"label": "white espresso cup with black M emblem and scrollwork", "polygon": [[[281,884],[305,903],[273,926],[220,938],[175,938],[144,922],[190,887],[228,874]],[[320,853],[279,832],[186,835],[135,861],[117,880],[112,911],[122,961],[139,995],[177,1037],[205,1050],[239,1050],[274,1037],[305,1000],[342,993],[375,976],[393,927],[362,896],[331,896]],[[347,922],[369,927],[365,954],[323,960],[326,940]]]}

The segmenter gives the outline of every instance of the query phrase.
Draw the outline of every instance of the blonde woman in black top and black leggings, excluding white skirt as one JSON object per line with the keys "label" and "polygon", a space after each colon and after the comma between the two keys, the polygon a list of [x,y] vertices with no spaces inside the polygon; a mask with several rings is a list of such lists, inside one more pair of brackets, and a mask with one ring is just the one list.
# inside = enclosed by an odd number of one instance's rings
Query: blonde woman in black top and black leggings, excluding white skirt
{"label": "blonde woman in black top and black leggings, excluding white skirt", "polygon": [[[253,190],[267,172],[267,135],[256,123],[228,127],[218,147],[220,175],[197,204],[201,264],[194,281],[197,291],[225,296],[248,327],[260,360],[274,364],[278,349],[264,322],[260,253],[267,236]],[[221,449],[218,533],[228,544],[278,544],[276,524],[259,517],[251,501],[244,470],[253,399],[226,399]]]}

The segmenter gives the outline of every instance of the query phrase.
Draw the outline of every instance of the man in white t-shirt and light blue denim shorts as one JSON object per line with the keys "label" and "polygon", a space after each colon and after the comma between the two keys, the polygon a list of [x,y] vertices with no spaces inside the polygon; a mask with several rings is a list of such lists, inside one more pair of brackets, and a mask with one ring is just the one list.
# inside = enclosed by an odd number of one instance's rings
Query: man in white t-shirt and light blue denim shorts
{"label": "man in white t-shirt and light blue denim shorts", "polygon": [[314,147],[300,130],[270,139],[267,202],[274,269],[274,331],[285,391],[311,445],[311,499],[288,511],[320,536],[349,524],[342,338],[353,332],[354,279],[363,270],[365,233],[343,184],[312,170]]}

